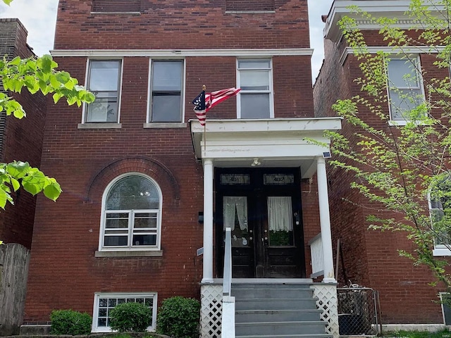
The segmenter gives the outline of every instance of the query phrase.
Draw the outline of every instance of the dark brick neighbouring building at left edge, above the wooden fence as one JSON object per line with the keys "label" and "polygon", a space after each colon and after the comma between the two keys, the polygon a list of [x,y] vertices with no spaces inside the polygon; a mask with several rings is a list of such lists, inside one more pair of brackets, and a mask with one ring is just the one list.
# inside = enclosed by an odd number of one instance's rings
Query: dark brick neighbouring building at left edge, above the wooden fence
{"label": "dark brick neighbouring building at left edge, above the wooden fence", "polygon": [[[16,56],[26,58],[34,55],[27,45],[27,34],[18,19],[0,19],[0,56],[11,60]],[[31,95],[27,90],[12,96],[22,104],[27,118],[18,120],[0,114],[0,161],[28,161],[30,165],[39,167],[46,101],[41,94]],[[36,198],[27,192],[14,195],[14,206],[7,204],[6,210],[0,212],[0,239],[30,249]]]}

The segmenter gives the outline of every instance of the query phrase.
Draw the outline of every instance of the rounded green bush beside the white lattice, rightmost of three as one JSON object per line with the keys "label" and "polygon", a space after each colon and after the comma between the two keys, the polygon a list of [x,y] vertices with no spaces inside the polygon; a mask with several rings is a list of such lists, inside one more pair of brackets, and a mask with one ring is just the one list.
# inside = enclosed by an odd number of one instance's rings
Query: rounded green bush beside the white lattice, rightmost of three
{"label": "rounded green bush beside the white lattice, rightmost of three", "polygon": [[182,296],[165,299],[158,311],[156,329],[173,338],[199,337],[199,301]]}

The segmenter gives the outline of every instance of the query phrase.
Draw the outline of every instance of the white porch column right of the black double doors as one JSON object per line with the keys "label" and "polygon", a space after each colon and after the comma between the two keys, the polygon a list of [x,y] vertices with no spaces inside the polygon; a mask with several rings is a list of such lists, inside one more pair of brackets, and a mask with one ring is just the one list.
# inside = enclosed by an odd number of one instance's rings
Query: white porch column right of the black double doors
{"label": "white porch column right of the black double doors", "polygon": [[327,191],[326,161],[316,158],[316,178],[318,179],[319,221],[323,242],[324,283],[336,283],[333,272],[332,234],[330,233],[329,196]]}

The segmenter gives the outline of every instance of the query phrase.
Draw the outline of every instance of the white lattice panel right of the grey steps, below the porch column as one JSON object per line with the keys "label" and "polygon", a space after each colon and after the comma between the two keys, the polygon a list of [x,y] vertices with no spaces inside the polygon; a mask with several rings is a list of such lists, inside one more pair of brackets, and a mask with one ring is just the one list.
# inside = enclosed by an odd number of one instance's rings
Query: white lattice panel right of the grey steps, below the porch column
{"label": "white lattice panel right of the grey steps, below the porch column", "polygon": [[333,334],[333,338],[339,338],[338,327],[338,298],[335,284],[313,284],[313,295],[316,297],[316,306],[323,311],[321,319],[326,323],[326,332]]}

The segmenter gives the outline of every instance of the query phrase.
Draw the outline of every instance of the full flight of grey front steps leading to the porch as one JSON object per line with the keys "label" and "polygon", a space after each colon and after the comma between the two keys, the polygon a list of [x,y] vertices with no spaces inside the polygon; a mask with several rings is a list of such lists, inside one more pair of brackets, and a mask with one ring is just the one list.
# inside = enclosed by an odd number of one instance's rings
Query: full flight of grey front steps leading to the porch
{"label": "full flight of grey front steps leading to the porch", "polygon": [[232,284],[236,338],[328,338],[310,284]]}

